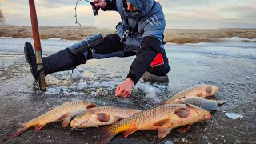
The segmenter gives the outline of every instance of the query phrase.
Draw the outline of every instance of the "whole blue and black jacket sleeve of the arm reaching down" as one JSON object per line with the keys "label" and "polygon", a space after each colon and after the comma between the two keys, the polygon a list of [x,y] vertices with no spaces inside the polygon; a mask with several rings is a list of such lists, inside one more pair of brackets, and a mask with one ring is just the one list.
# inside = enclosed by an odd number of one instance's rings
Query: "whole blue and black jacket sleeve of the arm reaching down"
{"label": "whole blue and black jacket sleeve of the arm reaching down", "polygon": [[147,18],[145,22],[146,25],[144,26],[140,49],[127,75],[127,78],[131,78],[134,84],[136,84],[146,70],[150,68],[150,63],[153,62],[158,54],[166,26],[163,14],[155,14]]}

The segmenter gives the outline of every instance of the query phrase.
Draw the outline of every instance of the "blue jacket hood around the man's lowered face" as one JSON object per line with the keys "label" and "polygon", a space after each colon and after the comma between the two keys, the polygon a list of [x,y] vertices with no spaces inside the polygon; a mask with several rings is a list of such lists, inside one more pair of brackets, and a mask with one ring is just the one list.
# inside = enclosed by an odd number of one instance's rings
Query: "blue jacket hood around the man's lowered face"
{"label": "blue jacket hood around the man's lowered face", "polygon": [[146,14],[148,14],[152,7],[154,6],[154,0],[123,0],[123,4],[126,1],[130,2],[130,4],[132,4],[138,9],[138,11],[136,12],[125,11],[126,16],[130,18],[143,17]]}

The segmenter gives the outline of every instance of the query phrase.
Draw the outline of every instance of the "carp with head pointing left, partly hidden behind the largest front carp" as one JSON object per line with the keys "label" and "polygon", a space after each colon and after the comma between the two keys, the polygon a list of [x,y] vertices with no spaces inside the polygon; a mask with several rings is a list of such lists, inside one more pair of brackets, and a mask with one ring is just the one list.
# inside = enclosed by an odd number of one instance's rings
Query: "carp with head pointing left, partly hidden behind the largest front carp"
{"label": "carp with head pointing left, partly hidden behind the largest front carp", "polygon": [[110,125],[123,118],[139,113],[141,110],[126,109],[114,106],[94,107],[87,110],[85,114],[76,116],[70,126],[73,128],[98,127]]}

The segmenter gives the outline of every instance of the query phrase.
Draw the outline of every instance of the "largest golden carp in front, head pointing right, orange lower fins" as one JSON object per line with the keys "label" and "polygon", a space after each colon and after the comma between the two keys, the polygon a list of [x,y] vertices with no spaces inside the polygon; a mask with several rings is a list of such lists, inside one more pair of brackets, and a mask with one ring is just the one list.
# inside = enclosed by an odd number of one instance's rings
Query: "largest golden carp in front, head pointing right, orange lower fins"
{"label": "largest golden carp in front, head pointing right, orange lower fins", "polygon": [[167,104],[142,110],[110,126],[91,130],[86,135],[99,136],[96,143],[107,143],[120,132],[124,132],[124,137],[128,137],[137,130],[158,130],[158,138],[164,138],[174,128],[179,127],[178,131],[186,132],[193,123],[210,118],[210,112],[198,106]]}

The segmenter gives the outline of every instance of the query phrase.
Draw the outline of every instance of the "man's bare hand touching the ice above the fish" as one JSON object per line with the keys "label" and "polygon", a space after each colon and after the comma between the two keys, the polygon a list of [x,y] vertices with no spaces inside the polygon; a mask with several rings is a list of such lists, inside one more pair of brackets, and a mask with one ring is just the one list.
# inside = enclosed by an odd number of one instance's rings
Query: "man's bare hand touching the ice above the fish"
{"label": "man's bare hand touching the ice above the fish", "polygon": [[118,85],[117,89],[115,90],[115,96],[128,98],[133,90],[134,81],[130,78],[127,78],[126,81],[122,82]]}

